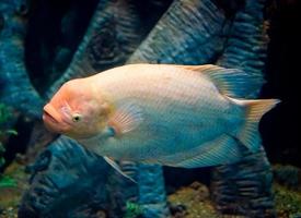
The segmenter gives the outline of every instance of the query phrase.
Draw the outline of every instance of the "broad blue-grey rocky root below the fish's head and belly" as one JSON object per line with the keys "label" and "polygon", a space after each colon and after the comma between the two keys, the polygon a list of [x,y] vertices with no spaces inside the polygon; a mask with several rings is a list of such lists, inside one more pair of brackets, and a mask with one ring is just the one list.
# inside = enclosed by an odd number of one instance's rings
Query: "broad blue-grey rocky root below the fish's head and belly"
{"label": "broad blue-grey rocky root below the fish's head and belly", "polygon": [[102,157],[59,137],[27,167],[31,186],[19,217],[97,217],[107,208],[108,168]]}

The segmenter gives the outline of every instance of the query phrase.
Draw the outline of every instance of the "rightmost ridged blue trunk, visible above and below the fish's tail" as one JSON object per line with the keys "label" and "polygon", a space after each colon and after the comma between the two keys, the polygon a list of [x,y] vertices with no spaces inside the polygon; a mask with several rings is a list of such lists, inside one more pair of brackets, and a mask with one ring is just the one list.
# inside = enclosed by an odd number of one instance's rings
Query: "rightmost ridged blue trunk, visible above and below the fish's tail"
{"label": "rightmost ridged blue trunk, visible above and below the fish's tail", "polygon": [[[239,97],[256,97],[264,83],[263,69],[267,38],[263,29],[263,0],[247,0],[235,15],[225,50],[218,64],[240,68],[254,76],[253,92]],[[251,81],[250,81],[251,83]],[[264,148],[245,153],[235,165],[221,166],[212,172],[212,195],[222,214],[273,217],[271,169]]]}

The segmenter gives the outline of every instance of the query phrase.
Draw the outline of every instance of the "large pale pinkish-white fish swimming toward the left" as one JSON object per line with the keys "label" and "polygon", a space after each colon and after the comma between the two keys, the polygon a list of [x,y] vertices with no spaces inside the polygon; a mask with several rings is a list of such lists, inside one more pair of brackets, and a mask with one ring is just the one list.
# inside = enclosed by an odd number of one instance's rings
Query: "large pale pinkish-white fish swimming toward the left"
{"label": "large pale pinkish-white fish swimming toward the left", "polygon": [[67,82],[43,119],[116,169],[113,159],[184,168],[232,164],[242,149],[259,148],[258,122],[279,101],[233,98],[248,87],[247,76],[217,65],[124,65]]}

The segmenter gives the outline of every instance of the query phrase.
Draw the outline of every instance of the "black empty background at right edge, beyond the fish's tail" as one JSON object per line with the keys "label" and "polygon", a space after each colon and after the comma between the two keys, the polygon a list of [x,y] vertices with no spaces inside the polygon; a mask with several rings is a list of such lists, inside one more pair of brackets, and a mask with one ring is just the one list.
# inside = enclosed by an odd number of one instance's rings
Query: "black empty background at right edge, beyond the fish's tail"
{"label": "black empty background at right edge, beyond the fish's tail", "polygon": [[274,1],[267,9],[270,17],[267,83],[263,98],[279,98],[281,104],[264,117],[261,133],[271,162],[301,167],[301,10],[300,1]]}

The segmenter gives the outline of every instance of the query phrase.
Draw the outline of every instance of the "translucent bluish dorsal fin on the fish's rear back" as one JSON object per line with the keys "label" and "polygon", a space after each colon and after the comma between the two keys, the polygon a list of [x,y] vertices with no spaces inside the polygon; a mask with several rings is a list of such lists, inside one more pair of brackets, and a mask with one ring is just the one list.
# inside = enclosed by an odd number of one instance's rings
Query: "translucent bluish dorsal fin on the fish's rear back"
{"label": "translucent bluish dorsal fin on the fish's rear back", "polygon": [[244,97],[256,89],[253,86],[257,84],[253,81],[255,77],[239,69],[225,69],[213,64],[175,66],[206,75],[220,93],[227,96]]}

